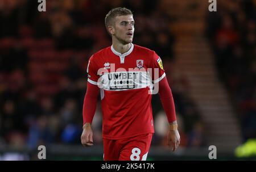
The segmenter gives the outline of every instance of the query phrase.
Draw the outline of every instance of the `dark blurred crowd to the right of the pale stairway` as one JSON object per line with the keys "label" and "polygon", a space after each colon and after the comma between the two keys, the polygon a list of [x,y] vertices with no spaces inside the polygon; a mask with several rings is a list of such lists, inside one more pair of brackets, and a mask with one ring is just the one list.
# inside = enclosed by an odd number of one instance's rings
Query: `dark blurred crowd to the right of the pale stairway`
{"label": "dark blurred crowd to the right of the pale stairway", "polygon": [[256,138],[256,1],[221,1],[219,5],[216,14],[208,15],[207,35],[246,141]]}

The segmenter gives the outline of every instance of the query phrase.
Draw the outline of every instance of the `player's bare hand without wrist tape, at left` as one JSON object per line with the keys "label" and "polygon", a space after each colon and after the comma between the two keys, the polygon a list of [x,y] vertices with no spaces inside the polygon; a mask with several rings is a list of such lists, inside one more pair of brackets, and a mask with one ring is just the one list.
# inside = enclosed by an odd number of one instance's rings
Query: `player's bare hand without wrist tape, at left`
{"label": "player's bare hand without wrist tape, at left", "polygon": [[82,135],[81,135],[81,143],[84,146],[92,146],[93,145],[93,132],[90,127],[90,123],[85,123],[84,127],[82,127]]}

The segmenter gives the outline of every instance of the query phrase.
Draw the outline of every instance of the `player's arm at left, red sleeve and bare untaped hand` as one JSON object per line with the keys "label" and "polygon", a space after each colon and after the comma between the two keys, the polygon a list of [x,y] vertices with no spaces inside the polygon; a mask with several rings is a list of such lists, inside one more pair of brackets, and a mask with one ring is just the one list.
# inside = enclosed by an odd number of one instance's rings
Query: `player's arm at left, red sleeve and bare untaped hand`
{"label": "player's arm at left, red sleeve and bare untaped hand", "polygon": [[93,145],[93,131],[90,124],[92,124],[93,116],[96,111],[99,90],[100,89],[97,85],[93,85],[92,83],[87,82],[87,90],[84,97],[84,105],[82,108],[84,125],[82,127],[83,131],[81,135],[81,143],[84,146]]}

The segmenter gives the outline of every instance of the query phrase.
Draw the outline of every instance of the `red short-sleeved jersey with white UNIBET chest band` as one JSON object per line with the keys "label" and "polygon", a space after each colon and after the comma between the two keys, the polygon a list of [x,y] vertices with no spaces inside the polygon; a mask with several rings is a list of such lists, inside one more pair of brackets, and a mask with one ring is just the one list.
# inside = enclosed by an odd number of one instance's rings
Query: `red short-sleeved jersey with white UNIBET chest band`
{"label": "red short-sleeved jersey with white UNIBET chest band", "polygon": [[154,51],[134,44],[123,54],[113,46],[104,48],[90,57],[87,72],[88,82],[101,88],[104,139],[154,133],[152,82],[165,77]]}

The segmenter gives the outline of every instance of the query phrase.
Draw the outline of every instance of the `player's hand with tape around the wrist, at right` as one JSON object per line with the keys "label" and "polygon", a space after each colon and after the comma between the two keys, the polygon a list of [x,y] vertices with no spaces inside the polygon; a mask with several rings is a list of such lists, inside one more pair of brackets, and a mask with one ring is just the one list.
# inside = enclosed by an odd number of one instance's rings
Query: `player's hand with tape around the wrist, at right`
{"label": "player's hand with tape around the wrist, at right", "polygon": [[180,145],[180,134],[177,130],[177,124],[170,124],[170,129],[167,136],[168,146],[174,152]]}

